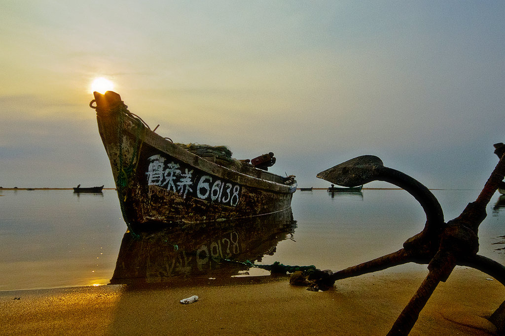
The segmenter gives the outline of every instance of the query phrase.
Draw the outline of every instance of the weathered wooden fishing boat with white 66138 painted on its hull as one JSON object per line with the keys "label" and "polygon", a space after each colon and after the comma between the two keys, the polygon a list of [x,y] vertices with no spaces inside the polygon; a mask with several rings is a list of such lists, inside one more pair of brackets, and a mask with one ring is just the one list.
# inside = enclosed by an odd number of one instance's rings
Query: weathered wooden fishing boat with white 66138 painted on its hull
{"label": "weathered wooden fishing boat with white 66138 painted on its hull", "polygon": [[96,110],[121,211],[130,229],[222,221],[290,209],[296,190],[293,175],[272,174],[247,160],[196,155],[150,130],[128,111],[119,94],[93,95],[90,107]]}

